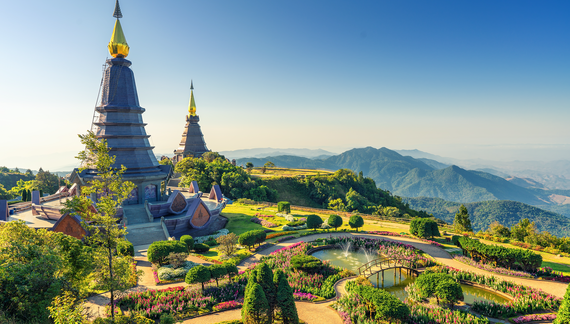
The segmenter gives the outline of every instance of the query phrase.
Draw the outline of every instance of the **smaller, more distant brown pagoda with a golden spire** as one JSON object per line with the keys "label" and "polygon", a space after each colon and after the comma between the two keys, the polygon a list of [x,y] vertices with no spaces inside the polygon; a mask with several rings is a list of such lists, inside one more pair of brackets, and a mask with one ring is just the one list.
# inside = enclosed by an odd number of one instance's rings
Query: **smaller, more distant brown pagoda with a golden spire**
{"label": "smaller, more distant brown pagoda with a golden spire", "polygon": [[204,135],[200,129],[200,117],[196,115],[196,102],[194,101],[194,82],[190,83],[190,103],[188,105],[188,115],[186,115],[186,126],[182,133],[182,139],[178,149],[174,150],[174,162],[178,162],[185,157],[201,157],[209,152],[204,142]]}

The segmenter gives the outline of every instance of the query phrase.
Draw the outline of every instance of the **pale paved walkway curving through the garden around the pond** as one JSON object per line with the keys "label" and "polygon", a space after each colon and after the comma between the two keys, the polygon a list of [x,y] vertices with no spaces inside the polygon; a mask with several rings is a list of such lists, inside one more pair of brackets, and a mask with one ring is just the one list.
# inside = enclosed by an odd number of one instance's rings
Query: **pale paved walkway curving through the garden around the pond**
{"label": "pale paved walkway curving through the garden around the pond", "polygon": [[[451,255],[436,246],[433,246],[431,244],[416,240],[416,239],[412,239],[412,238],[406,238],[406,237],[394,237],[394,236],[382,236],[382,235],[370,235],[370,234],[359,234],[359,233],[329,233],[329,234],[315,234],[315,235],[309,235],[309,236],[305,236],[305,237],[300,237],[297,239],[293,239],[287,242],[282,242],[282,243],[278,243],[275,244],[274,246],[267,248],[259,253],[256,253],[246,259],[244,259],[242,262],[240,262],[240,264],[238,265],[238,268],[240,270],[244,270],[247,267],[249,267],[252,264],[255,264],[257,262],[259,262],[259,260],[261,259],[262,256],[266,256],[269,255],[271,252],[276,251],[280,248],[298,243],[298,242],[310,242],[310,241],[314,241],[318,238],[327,238],[327,237],[339,237],[339,236],[358,236],[358,237],[366,237],[366,238],[382,238],[388,241],[395,241],[395,242],[403,242],[406,244],[410,244],[422,251],[424,251],[425,253],[429,254],[430,256],[432,256],[436,261],[445,264],[447,266],[456,268],[456,269],[461,269],[461,270],[468,270],[468,271],[472,271],[478,274],[483,274],[483,275],[489,275],[492,274],[493,276],[499,277],[503,280],[507,280],[507,281],[512,281],[512,282],[516,282],[518,284],[523,284],[526,286],[530,286],[533,288],[537,288],[537,289],[541,289],[547,293],[550,293],[554,296],[557,297],[564,297],[564,294],[566,293],[566,288],[567,288],[567,284],[564,283],[559,283],[559,282],[553,282],[553,281],[539,281],[539,280],[529,280],[529,279],[523,279],[523,278],[513,278],[513,277],[509,277],[509,276],[503,276],[503,275],[499,275],[499,274],[495,274],[495,273],[490,273],[488,271],[485,270],[481,270],[466,264],[463,264],[461,262],[455,261],[451,258]],[[142,248],[142,247],[141,247]],[[151,265],[150,262],[147,261],[146,259],[146,251],[144,251],[144,249],[137,249],[137,253],[135,256],[135,259],[138,261],[137,264],[137,269],[139,270],[143,270],[144,271],[144,276],[139,280],[139,285],[132,288],[132,291],[140,291],[140,290],[147,290],[147,289],[164,289],[164,288],[168,288],[168,287],[174,287],[174,286],[187,286],[186,283],[184,282],[179,282],[179,283],[173,283],[173,284],[168,284],[168,285],[160,285],[157,286],[154,282],[154,276],[152,274],[151,271]],[[190,258],[192,258],[190,260]],[[204,261],[202,259],[196,258],[196,257],[189,257],[190,261],[194,261],[197,263],[202,263],[202,264],[209,264],[209,262]],[[343,295],[346,293],[346,290],[344,289],[344,286],[346,284],[346,280],[340,282],[337,285],[337,294],[338,295]],[[98,295],[98,296],[94,296],[94,297],[90,297],[89,298],[89,306],[94,306],[95,310],[97,310],[99,308],[102,307],[102,305],[108,303],[108,298],[106,298],[104,295]],[[313,304],[313,303],[307,303],[307,302],[296,302],[295,304],[297,305],[297,311],[299,313],[299,318],[301,318],[302,320],[304,320],[306,323],[308,324],[317,324],[317,323],[326,323],[326,324],[342,324],[342,321],[340,319],[340,317],[338,316],[337,312],[335,310],[333,310],[331,307],[329,307],[333,302],[328,302],[328,303],[323,303],[323,304]],[[99,307],[97,307],[99,306]],[[228,321],[228,320],[236,320],[236,319],[240,319],[241,318],[241,309],[236,309],[236,310],[231,310],[231,311],[226,311],[226,312],[221,312],[221,313],[216,313],[216,314],[212,314],[212,315],[206,315],[206,316],[202,316],[202,317],[198,317],[198,318],[193,318],[193,319],[189,319],[184,321],[183,323],[196,323],[196,324],[200,324],[200,323],[217,323],[217,322],[221,322],[221,321]]]}

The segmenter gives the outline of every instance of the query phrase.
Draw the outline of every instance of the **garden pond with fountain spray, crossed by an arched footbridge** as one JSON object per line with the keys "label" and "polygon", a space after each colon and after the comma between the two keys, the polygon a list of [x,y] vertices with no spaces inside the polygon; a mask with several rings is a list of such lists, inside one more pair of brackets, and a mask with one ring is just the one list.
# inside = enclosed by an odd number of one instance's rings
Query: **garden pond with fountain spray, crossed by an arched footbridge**
{"label": "garden pond with fountain spray, crossed by an arched footbridge", "polygon": [[[358,267],[374,258],[374,256],[354,251],[348,251],[345,255],[345,251],[340,249],[320,250],[312,255],[321,260],[328,260],[330,264],[337,267],[352,270],[357,274]],[[383,280],[381,274],[379,276],[373,275],[369,279],[374,286],[389,291],[403,301],[408,295],[404,288],[414,282],[416,280],[416,276],[413,274],[409,275],[406,271],[402,271],[400,274],[399,270],[391,269],[384,272]],[[463,289],[463,295],[465,297],[464,302],[467,304],[473,304],[476,300],[494,301],[497,303],[508,302],[507,299],[485,289],[475,288],[468,285],[461,285],[461,289]]]}

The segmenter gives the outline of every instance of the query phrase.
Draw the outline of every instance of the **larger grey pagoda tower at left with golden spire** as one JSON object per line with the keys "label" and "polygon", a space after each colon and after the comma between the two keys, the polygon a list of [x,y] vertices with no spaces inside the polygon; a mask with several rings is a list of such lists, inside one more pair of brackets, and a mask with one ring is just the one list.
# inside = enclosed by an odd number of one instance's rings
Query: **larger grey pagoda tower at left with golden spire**
{"label": "larger grey pagoda tower at left with golden spire", "polygon": [[[123,17],[119,0],[116,0],[113,17],[116,18],[115,28],[108,45],[113,58],[106,61],[101,102],[95,108],[92,130],[97,138],[107,140],[110,154],[116,157],[114,167],[124,165],[127,168],[123,179],[136,185],[125,204],[142,204],[145,200],[161,199],[161,184],[171,174],[171,167],[158,163],[152,151],[154,147],[149,144],[150,135],[147,135],[142,119],[145,109],[139,105],[131,61],[126,59],[129,45],[119,21]],[[97,177],[97,170],[79,172],[75,169],[71,180],[84,186],[94,177]]]}

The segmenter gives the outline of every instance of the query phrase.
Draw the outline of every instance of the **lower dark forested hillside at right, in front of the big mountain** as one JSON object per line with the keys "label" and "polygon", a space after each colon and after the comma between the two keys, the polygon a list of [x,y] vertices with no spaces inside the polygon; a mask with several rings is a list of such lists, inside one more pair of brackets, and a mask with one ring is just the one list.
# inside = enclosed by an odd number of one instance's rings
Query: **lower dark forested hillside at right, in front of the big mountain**
{"label": "lower dark forested hillside at right, in front of the big mountain", "polygon": [[[403,198],[410,208],[422,210],[453,223],[455,213],[460,203],[446,201],[440,198]],[[550,211],[542,210],[517,201],[492,200],[464,204],[471,215],[471,223],[475,231],[484,231],[489,225],[498,221],[510,227],[523,218],[536,223],[540,231],[548,231],[557,236],[570,236],[570,218]]]}

